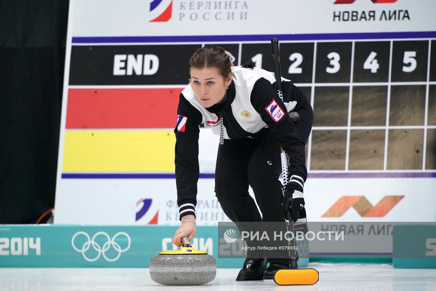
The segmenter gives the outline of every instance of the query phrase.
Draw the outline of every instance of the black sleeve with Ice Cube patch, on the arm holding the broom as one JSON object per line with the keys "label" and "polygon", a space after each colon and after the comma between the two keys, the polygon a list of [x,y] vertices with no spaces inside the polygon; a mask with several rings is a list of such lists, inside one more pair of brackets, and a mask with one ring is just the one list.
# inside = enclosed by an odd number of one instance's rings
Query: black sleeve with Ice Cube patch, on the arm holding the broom
{"label": "black sleeve with Ice Cube patch, on the arm holding the broom", "polygon": [[304,182],[307,179],[304,142],[300,139],[285,104],[277,96],[273,85],[264,78],[256,81],[250,99],[253,107],[259,112],[288,156],[290,177],[288,187],[303,192]]}

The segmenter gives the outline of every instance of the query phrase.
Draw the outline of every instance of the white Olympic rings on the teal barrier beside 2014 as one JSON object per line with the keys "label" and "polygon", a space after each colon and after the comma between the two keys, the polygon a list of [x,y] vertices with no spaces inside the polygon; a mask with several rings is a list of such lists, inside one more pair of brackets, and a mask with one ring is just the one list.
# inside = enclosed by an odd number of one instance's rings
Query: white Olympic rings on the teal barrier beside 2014
{"label": "white Olympic rings on the teal barrier beside 2014", "polygon": [[[75,244],[75,239],[76,239],[76,237],[81,236],[81,235],[85,236],[86,242],[83,243],[81,248],[78,248],[76,246],[76,244]],[[100,246],[99,243],[95,242],[95,239],[98,236],[103,236],[104,238],[107,239],[107,242],[103,243],[103,245]],[[119,238],[118,242],[116,242],[115,240],[118,237],[120,237],[120,238]],[[124,239],[122,239],[123,237],[124,237]],[[80,239],[78,239],[78,240],[80,240]],[[125,241],[125,240],[127,240],[127,246],[122,249],[121,246],[120,246],[120,243],[122,245],[124,245],[122,242]],[[130,249],[130,236],[126,232],[118,232],[111,239],[106,232],[97,232],[94,236],[92,236],[92,239],[91,239],[89,237],[89,234],[87,234],[86,232],[76,232],[75,235],[71,239],[71,244],[73,246],[73,249],[75,249],[79,253],[82,253],[83,257],[88,262],[95,262],[96,260],[99,259],[99,257],[101,255],[103,255],[105,260],[107,260],[108,262],[115,262],[121,256],[121,253],[124,253],[124,252],[126,252],[127,250]],[[93,255],[92,253],[94,253],[94,254],[95,254],[95,252],[97,253],[97,255],[94,258],[89,258],[88,256],[85,255],[85,253],[89,250],[89,248],[91,246],[93,248],[93,251],[90,251],[91,252],[91,256]],[[109,258],[108,256],[106,256],[106,252],[111,247],[113,247],[113,249],[115,249],[115,252],[118,253],[114,258]],[[113,251],[112,251],[112,253],[113,253]]]}

